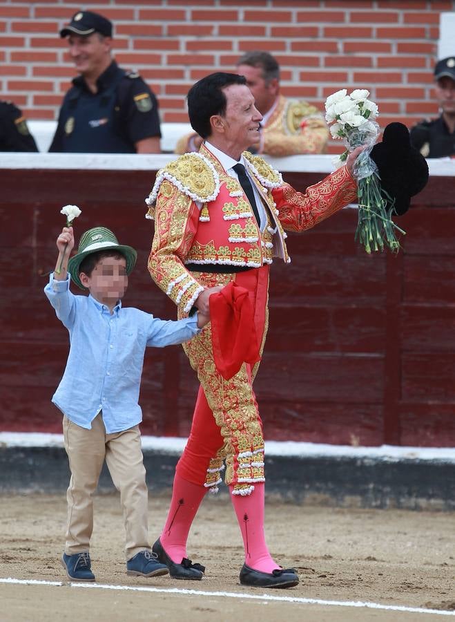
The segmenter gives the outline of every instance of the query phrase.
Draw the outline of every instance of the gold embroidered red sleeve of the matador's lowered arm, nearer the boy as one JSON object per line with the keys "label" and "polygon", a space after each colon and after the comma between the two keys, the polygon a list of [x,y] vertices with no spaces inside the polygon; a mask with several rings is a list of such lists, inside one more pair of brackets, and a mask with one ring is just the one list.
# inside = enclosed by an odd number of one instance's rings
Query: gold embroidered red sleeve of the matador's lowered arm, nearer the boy
{"label": "gold embroidered red sleeve of the matador's lowered arm, nearer the boy", "polygon": [[191,310],[195,299],[204,290],[184,266],[198,218],[199,209],[195,202],[164,180],[157,196],[155,235],[148,271],[158,287],[185,313]]}

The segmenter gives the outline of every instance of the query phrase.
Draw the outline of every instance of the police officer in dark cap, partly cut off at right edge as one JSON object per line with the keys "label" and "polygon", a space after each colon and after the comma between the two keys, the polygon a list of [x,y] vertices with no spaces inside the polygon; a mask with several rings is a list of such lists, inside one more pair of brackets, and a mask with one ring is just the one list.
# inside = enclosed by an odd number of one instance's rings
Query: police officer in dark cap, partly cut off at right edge
{"label": "police officer in dark cap, partly cut off at right edge", "polygon": [[434,79],[441,116],[415,125],[409,132],[411,144],[425,158],[455,156],[455,56],[436,64]]}

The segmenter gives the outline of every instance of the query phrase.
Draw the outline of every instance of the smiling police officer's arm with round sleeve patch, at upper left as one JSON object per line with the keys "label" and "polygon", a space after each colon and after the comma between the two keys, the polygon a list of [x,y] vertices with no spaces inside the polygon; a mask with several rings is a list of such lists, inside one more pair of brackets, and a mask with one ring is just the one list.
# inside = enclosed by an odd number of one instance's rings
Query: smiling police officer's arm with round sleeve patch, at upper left
{"label": "smiling police officer's arm with round sleeve patch, at upper left", "polygon": [[161,153],[158,102],[144,80],[130,73],[119,86],[123,128],[137,153]]}

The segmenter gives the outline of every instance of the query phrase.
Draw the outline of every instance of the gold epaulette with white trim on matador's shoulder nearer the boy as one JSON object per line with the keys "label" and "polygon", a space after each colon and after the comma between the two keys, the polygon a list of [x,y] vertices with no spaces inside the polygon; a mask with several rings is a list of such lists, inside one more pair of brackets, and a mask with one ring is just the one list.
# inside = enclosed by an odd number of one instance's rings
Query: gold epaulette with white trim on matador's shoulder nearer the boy
{"label": "gold epaulette with white trim on matador's shoulder nearer the boy", "polygon": [[213,164],[201,153],[184,153],[159,170],[153,189],[146,199],[148,206],[155,204],[164,179],[201,203],[213,201],[220,192],[220,177]]}

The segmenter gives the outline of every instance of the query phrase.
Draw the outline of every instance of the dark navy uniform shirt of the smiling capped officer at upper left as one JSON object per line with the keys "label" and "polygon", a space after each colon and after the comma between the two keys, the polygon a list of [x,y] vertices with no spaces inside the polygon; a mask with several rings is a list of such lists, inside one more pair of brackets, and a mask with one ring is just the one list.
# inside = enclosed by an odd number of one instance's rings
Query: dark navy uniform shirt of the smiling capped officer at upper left
{"label": "dark navy uniform shirt of the smiling capped officer at upper left", "polygon": [[113,61],[92,93],[82,76],[72,80],[49,151],[135,153],[135,143],[161,137],[155,95],[136,73]]}

